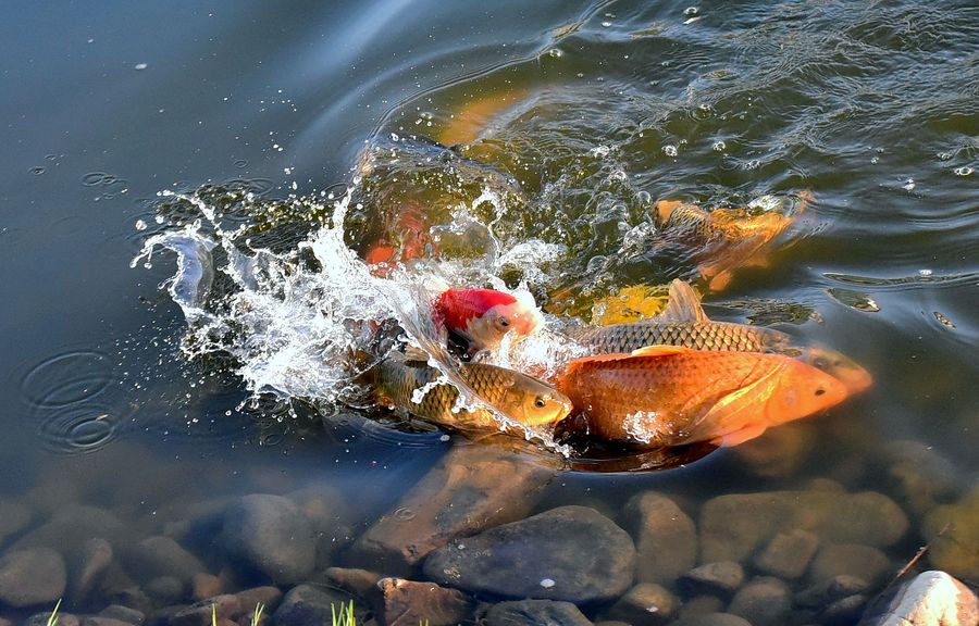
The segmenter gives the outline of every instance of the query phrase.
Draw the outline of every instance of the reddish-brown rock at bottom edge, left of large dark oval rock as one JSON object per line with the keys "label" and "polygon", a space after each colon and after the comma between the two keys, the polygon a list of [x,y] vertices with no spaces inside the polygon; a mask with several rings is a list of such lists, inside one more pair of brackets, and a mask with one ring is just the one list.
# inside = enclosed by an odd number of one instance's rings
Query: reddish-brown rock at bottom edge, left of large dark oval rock
{"label": "reddish-brown rock at bottom edge, left of large dark oval rock", "polygon": [[384,626],[417,626],[422,623],[458,624],[472,619],[475,600],[456,589],[434,583],[416,583],[404,578],[382,578],[377,585],[383,594]]}

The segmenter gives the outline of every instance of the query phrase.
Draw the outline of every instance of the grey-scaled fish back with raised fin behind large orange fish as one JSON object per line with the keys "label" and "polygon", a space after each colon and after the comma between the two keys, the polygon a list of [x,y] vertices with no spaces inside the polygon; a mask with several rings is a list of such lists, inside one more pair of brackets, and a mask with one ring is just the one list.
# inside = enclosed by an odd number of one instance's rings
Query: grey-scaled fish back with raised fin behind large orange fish
{"label": "grey-scaled fish back with raised fin behind large orange fish", "polygon": [[687,283],[670,284],[666,308],[656,317],[568,330],[594,353],[632,352],[646,346],[681,346],[697,350],[781,352],[789,349],[789,335],[771,328],[712,322]]}

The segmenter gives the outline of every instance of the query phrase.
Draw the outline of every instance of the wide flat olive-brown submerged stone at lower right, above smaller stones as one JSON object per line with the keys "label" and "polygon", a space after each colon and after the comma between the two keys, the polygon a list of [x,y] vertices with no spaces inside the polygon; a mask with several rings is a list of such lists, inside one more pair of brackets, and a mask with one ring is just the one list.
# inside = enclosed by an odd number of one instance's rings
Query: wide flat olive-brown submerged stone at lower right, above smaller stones
{"label": "wide flat olive-brown submerged stone at lower right, above smaller stones", "polygon": [[776,534],[808,530],[821,541],[892,546],[908,519],[893,500],[875,491],[732,493],[701,508],[701,561],[745,561]]}

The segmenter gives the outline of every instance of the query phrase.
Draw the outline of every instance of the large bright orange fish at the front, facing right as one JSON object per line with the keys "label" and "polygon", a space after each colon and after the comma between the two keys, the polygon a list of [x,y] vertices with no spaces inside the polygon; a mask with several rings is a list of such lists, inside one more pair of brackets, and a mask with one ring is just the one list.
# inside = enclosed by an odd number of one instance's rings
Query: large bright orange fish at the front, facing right
{"label": "large bright orange fish at the front, facing right", "polygon": [[673,346],[577,359],[557,387],[590,436],[648,446],[736,446],[847,396],[843,383],[790,356]]}

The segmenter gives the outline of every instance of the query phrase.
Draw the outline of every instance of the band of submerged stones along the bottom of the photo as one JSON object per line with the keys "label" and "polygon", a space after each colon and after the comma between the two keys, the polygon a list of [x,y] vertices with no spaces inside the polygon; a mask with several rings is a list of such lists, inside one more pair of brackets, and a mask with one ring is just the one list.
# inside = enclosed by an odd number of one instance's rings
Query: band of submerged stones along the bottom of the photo
{"label": "band of submerged stones along the bottom of the photo", "polygon": [[274,485],[193,503],[175,488],[127,518],[50,478],[0,499],[0,626],[47,624],[59,600],[60,626],[332,624],[351,601],[382,626],[976,624],[979,488],[915,442],[876,463],[888,493],[816,478],[547,505],[557,471],[457,446],[365,521],[331,487]]}

